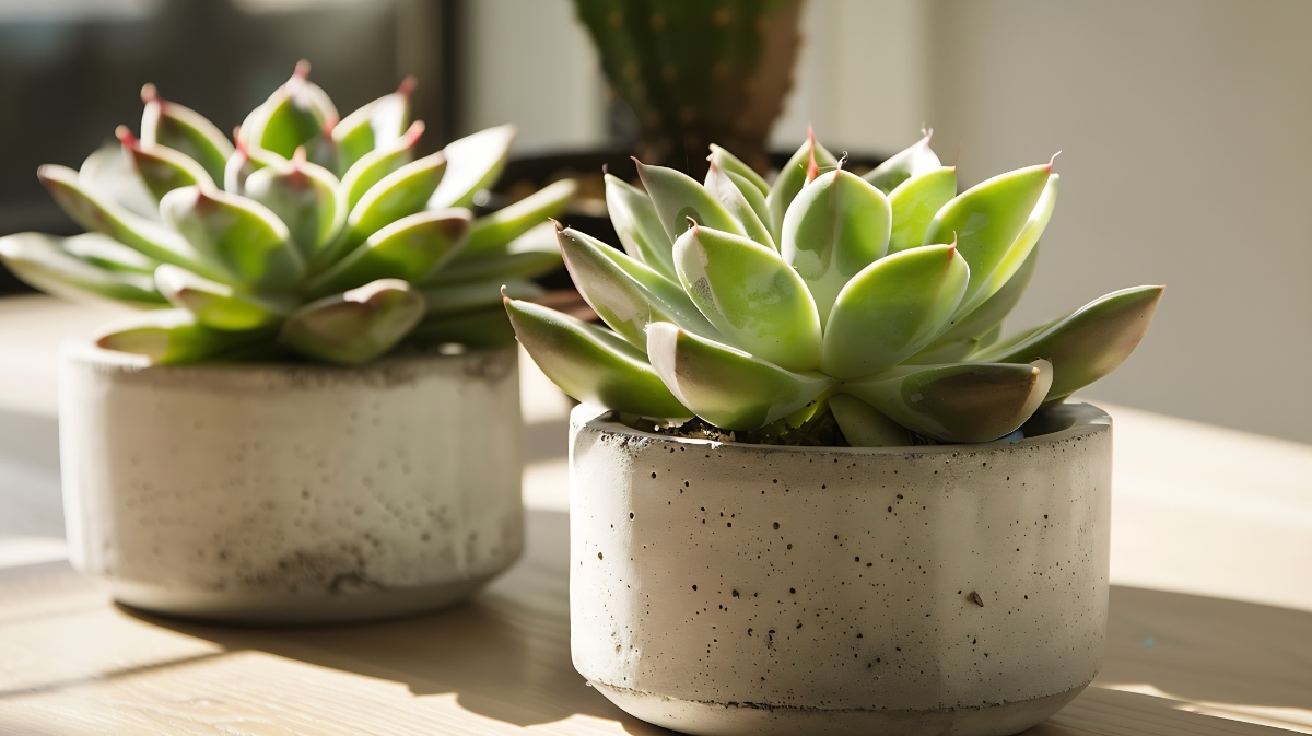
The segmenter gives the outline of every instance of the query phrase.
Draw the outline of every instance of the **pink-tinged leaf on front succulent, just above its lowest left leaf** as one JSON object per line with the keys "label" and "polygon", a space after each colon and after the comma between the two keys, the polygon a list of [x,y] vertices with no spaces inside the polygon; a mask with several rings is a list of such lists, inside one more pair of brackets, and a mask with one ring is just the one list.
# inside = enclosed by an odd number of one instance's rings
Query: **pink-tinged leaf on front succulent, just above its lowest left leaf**
{"label": "pink-tinged leaf on front succulent, just above its lowest left leaf", "polygon": [[602,321],[639,349],[647,345],[651,321],[715,333],[673,281],[576,230],[562,230],[556,237],[579,294]]}

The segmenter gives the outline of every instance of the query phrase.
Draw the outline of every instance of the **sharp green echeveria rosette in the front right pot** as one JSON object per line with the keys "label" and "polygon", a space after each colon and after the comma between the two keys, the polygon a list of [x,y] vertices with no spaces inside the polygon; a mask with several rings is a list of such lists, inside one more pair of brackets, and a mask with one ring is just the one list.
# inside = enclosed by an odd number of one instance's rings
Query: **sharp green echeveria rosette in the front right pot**
{"label": "sharp green echeveria rosette in the front right pot", "polygon": [[761,438],[832,415],[851,445],[987,442],[1111,373],[1161,298],[1126,289],[998,338],[1056,203],[1051,161],[958,194],[928,135],[865,176],[813,138],[773,184],[724,148],[708,160],[702,184],[606,177],[623,252],[556,234],[610,329],[506,296],[571,396]]}

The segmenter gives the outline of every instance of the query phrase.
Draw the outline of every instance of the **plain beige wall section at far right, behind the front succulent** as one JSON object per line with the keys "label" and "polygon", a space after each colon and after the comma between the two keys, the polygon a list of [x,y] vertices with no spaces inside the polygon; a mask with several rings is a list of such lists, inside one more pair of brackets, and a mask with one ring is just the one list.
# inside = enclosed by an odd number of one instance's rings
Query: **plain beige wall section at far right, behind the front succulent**
{"label": "plain beige wall section at far right, behind the front succulent", "polygon": [[1064,151],[1015,327],[1165,283],[1086,395],[1312,441],[1312,3],[938,1],[930,33],[966,182]]}

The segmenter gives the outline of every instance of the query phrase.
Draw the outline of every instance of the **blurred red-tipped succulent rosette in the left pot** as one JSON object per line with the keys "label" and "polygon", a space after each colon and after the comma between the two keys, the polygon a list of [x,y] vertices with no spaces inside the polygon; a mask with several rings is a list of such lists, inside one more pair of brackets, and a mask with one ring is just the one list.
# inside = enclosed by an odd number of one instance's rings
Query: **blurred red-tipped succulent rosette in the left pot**
{"label": "blurred red-tipped succulent rosette in the left pot", "polygon": [[527,279],[559,265],[546,219],[573,182],[475,218],[514,130],[417,156],[413,84],[338,118],[302,62],[235,142],[147,85],[140,136],[121,126],[80,171],[38,171],[88,232],[10,235],[0,260],[38,289],[150,310],[98,344],[159,363],[508,342],[500,289],[533,295]]}

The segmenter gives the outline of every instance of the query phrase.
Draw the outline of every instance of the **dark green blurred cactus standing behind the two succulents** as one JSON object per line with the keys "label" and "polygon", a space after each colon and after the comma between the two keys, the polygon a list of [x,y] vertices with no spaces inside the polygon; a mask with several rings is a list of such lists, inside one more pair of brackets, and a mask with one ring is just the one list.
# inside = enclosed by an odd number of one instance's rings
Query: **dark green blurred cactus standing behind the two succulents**
{"label": "dark green blurred cactus standing behind the two succulents", "polygon": [[792,84],[800,0],[575,5],[611,87],[638,118],[640,157],[695,167],[698,152],[718,142],[765,168],[765,140]]}

